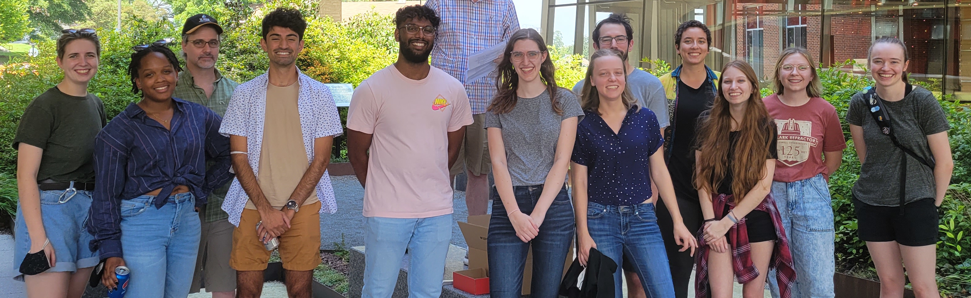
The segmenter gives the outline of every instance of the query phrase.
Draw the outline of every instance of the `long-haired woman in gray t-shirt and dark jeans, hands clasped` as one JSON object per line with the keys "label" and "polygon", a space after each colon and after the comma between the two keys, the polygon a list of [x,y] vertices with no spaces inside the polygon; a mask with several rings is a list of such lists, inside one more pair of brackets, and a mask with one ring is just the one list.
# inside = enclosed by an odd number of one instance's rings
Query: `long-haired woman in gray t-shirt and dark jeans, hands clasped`
{"label": "long-haired woman in gray t-shirt and dark jeans, hands clasped", "polygon": [[573,240],[566,192],[580,102],[553,79],[536,30],[513,34],[497,67],[499,91],[485,113],[495,186],[488,229],[489,290],[518,298],[532,244],[532,296],[555,298]]}

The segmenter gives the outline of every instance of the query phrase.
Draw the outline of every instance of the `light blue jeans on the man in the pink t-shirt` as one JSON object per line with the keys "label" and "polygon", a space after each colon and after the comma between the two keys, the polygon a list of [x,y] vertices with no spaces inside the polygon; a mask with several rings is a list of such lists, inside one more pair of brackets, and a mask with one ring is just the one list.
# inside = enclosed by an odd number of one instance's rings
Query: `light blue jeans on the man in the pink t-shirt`
{"label": "light blue jeans on the man in the pink t-shirt", "polygon": [[451,214],[425,218],[364,217],[361,297],[391,297],[407,248],[411,258],[408,297],[438,298],[451,241]]}

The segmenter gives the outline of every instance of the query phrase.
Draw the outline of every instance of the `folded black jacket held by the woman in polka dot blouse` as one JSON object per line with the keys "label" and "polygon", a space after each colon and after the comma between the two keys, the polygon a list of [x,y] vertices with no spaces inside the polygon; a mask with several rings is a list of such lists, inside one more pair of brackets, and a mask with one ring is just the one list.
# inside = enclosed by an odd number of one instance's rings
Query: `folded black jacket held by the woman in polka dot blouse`
{"label": "folded black jacket held by the woman in polka dot blouse", "polygon": [[614,298],[614,272],[617,272],[617,262],[596,248],[590,248],[583,286],[578,288],[577,281],[582,272],[584,266],[580,265],[580,259],[574,259],[570,270],[559,283],[559,294],[567,298]]}

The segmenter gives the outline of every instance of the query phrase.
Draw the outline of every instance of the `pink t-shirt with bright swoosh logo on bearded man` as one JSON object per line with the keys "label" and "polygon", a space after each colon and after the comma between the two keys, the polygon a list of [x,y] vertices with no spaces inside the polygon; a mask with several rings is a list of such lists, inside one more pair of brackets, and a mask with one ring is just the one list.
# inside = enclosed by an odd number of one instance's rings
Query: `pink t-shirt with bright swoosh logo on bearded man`
{"label": "pink t-shirt with bright swoosh logo on bearded man", "polygon": [[452,214],[448,132],[472,124],[465,87],[432,67],[420,81],[392,64],[360,83],[348,129],[373,134],[364,216]]}

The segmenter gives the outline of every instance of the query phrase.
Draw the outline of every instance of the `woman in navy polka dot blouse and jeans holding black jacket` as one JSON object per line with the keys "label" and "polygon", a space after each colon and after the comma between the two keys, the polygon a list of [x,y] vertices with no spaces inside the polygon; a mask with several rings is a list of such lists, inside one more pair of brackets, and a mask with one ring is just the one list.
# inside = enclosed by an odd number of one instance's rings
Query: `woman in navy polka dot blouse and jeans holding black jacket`
{"label": "woman in navy polka dot blouse and jeans holding black jacket", "polygon": [[[580,240],[580,262],[597,248],[618,265],[626,256],[649,297],[674,297],[674,284],[661,238],[651,180],[671,208],[674,235],[682,250],[697,246],[674,202],[674,186],[660,150],[657,117],[624,89],[626,66],[618,50],[590,56],[581,106],[586,116],[577,127],[571,178]],[[670,201],[670,202],[668,202]],[[614,273],[619,298],[620,268]]]}

